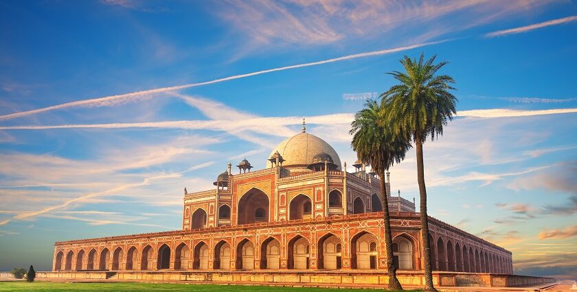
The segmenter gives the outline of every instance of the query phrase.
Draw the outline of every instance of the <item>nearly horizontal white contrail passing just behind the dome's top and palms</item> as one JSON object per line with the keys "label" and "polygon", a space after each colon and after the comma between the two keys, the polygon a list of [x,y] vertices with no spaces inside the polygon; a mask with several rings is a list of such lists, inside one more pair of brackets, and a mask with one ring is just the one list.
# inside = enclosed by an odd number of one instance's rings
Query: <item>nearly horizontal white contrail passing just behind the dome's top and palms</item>
{"label": "nearly horizontal white contrail passing just behind the dome's top and palms", "polygon": [[[473,109],[458,111],[457,117],[529,117],[534,115],[556,115],[562,113],[577,113],[577,108],[572,109],[543,109],[543,110],[517,110],[517,109]],[[315,115],[306,117],[307,124],[350,124],[354,119],[354,113],[334,113],[330,115]],[[186,130],[210,130],[210,131],[260,131],[263,124],[269,127],[289,126],[300,124],[302,117],[256,117],[246,120],[184,120],[163,122],[141,123],[115,123],[115,124],[64,124],[64,125],[41,125],[41,126],[0,126],[0,130],[46,130],[57,128],[181,128]],[[271,131],[271,135],[282,133]]]}

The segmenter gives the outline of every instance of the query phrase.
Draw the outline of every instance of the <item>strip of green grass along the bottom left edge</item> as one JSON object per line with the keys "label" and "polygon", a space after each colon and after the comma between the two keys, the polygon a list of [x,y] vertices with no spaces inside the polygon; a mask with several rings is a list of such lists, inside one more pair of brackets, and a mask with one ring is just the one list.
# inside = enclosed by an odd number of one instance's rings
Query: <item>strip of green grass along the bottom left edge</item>
{"label": "strip of green grass along the bottom left edge", "polygon": [[[199,285],[199,284],[151,284],[151,283],[59,283],[59,282],[0,282],[0,291],[233,291],[233,292],[359,292],[359,289],[323,289],[323,288],[288,288],[266,286],[238,286],[238,285]],[[366,291],[366,290],[365,290]]]}

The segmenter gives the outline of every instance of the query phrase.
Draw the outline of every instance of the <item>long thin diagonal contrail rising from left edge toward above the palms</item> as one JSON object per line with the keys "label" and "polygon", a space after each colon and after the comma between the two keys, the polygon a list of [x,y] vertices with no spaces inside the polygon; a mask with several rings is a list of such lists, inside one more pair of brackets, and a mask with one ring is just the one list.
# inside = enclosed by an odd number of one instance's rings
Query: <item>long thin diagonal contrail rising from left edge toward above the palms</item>
{"label": "long thin diagonal contrail rising from left edge toward above the palms", "polygon": [[10,120],[10,119],[14,119],[16,117],[23,117],[26,115],[34,115],[35,113],[43,113],[45,111],[54,111],[56,109],[65,109],[65,108],[69,108],[69,107],[73,107],[73,106],[89,106],[89,105],[91,105],[91,106],[106,106],[109,104],[114,104],[115,102],[122,102],[122,101],[132,100],[135,98],[142,98],[144,96],[149,96],[149,95],[155,94],[155,93],[163,93],[163,92],[168,92],[168,91],[177,91],[177,90],[181,90],[181,89],[187,89],[190,87],[199,87],[199,86],[203,86],[203,85],[211,85],[214,83],[224,82],[224,81],[228,81],[228,80],[240,79],[240,78],[256,76],[256,75],[260,75],[260,74],[267,74],[267,73],[271,73],[271,72],[275,72],[275,71],[283,71],[283,70],[289,70],[289,69],[297,69],[297,68],[302,68],[302,67],[322,65],[322,64],[326,64],[326,63],[338,62],[341,60],[351,60],[351,59],[356,59],[356,58],[365,58],[365,57],[370,57],[370,56],[392,54],[392,53],[396,53],[396,52],[406,51],[408,49],[415,49],[417,47],[425,47],[427,45],[435,45],[438,43],[445,43],[447,41],[451,41],[451,39],[446,39],[443,41],[428,42],[428,43],[418,43],[416,45],[408,45],[405,47],[396,47],[393,49],[381,49],[379,51],[365,52],[365,53],[360,53],[360,54],[352,54],[352,55],[342,56],[342,57],[338,57],[338,58],[331,58],[328,60],[320,60],[317,62],[291,65],[291,66],[285,66],[285,67],[278,67],[278,68],[256,71],[256,72],[247,73],[247,74],[234,75],[234,76],[229,76],[229,77],[225,77],[225,78],[220,78],[220,79],[215,79],[215,80],[210,80],[210,81],[205,81],[205,82],[199,82],[199,83],[190,83],[190,84],[186,84],[186,85],[178,85],[178,86],[173,86],[173,87],[162,87],[162,88],[157,88],[157,89],[136,91],[133,93],[124,93],[124,94],[118,94],[115,96],[106,96],[104,98],[93,98],[90,100],[78,100],[76,102],[67,102],[67,103],[63,103],[63,104],[57,104],[54,106],[43,107],[41,109],[33,109],[31,111],[21,111],[19,113],[10,113],[8,115],[0,115],[0,120]]}

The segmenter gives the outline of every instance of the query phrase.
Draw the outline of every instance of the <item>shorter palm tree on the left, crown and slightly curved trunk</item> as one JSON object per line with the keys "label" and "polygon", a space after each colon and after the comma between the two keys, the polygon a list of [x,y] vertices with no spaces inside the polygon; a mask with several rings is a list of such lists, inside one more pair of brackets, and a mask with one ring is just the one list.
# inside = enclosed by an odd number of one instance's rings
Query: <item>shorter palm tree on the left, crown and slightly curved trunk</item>
{"label": "shorter palm tree on the left, crown and slightly curved trunk", "polygon": [[387,113],[381,104],[375,100],[368,100],[365,108],[354,116],[351,123],[350,134],[352,148],[357,152],[359,160],[370,164],[372,169],[381,179],[381,204],[385,217],[385,245],[387,248],[387,270],[389,274],[389,289],[402,290],[400,282],[396,278],[396,267],[393,265],[393,242],[391,236],[391,224],[389,221],[389,208],[387,190],[385,187],[385,171],[394,162],[400,162],[405,158],[405,153],[411,147],[410,142],[403,139],[395,139],[388,131],[385,121]]}

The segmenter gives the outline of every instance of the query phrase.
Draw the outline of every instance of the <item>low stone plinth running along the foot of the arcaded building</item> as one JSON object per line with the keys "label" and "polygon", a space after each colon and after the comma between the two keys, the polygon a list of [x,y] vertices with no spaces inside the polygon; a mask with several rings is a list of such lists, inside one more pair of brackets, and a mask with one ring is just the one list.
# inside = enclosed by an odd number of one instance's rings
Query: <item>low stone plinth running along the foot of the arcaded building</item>
{"label": "low stone plinth running along the foot of the arcaded building", "polygon": [[[419,271],[398,271],[398,280],[409,287],[425,284]],[[286,286],[386,287],[385,271],[54,271],[38,272],[44,280],[94,280],[138,282],[191,282],[213,284],[263,284]],[[553,278],[493,273],[433,271],[438,287],[529,287],[552,283]]]}

